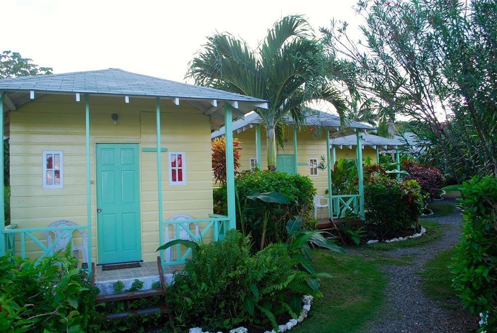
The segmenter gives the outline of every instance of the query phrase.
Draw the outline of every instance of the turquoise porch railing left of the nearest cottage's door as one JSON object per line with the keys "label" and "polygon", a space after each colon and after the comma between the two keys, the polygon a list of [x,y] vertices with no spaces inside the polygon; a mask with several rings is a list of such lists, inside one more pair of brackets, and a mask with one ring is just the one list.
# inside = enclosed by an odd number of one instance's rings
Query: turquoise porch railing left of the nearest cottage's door
{"label": "turquoise porch railing left of the nearest cottage's door", "polygon": [[[5,227],[3,233],[6,234],[6,240],[8,240],[7,244],[11,244],[14,253],[16,250],[15,235],[19,234],[19,241],[21,247],[20,256],[23,258],[26,257],[26,241],[29,239],[34,244],[36,244],[43,251],[43,253],[36,260],[36,262],[38,262],[41,258],[52,255],[52,250],[54,250],[54,248],[62,238],[69,236],[69,240],[72,241],[74,230],[87,230],[87,229],[88,226],[46,227],[46,228],[29,228],[29,229],[16,229],[15,227],[13,228]],[[62,233],[52,242],[50,246],[43,245],[43,243],[35,235],[33,235],[33,233],[44,233],[45,231],[56,231],[56,230],[62,230]],[[45,237],[45,234],[43,234],[43,237]],[[91,256],[88,257],[88,260],[91,261]],[[88,262],[88,267],[91,267],[91,262]]]}

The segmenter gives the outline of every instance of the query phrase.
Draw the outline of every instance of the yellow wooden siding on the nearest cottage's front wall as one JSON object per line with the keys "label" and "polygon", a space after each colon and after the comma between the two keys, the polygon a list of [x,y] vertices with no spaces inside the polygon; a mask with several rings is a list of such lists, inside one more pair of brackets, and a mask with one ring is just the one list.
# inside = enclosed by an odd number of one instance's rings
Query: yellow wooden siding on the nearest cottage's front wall
{"label": "yellow wooden siding on the nearest cottage's front wall", "polygon": [[[209,117],[182,102],[161,101],[162,146],[186,153],[186,185],[169,186],[168,154],[162,154],[164,219],[179,213],[205,218],[212,213]],[[114,125],[111,115],[119,115]],[[156,146],[155,100],[90,95],[92,256],[96,259],[96,143]],[[59,219],[86,225],[84,103],[74,96],[45,95],[10,113],[11,223],[39,228]],[[42,151],[64,152],[64,188],[43,189]],[[159,246],[157,153],[140,153],[142,259],[152,261]],[[76,235],[76,234],[75,234]],[[43,233],[39,239],[45,240]],[[19,239],[19,237],[17,237]],[[205,239],[208,241],[208,238]],[[43,241],[45,242],[45,241]],[[76,240],[76,243],[79,243]],[[18,249],[19,244],[17,244]],[[27,254],[41,254],[27,241]]]}

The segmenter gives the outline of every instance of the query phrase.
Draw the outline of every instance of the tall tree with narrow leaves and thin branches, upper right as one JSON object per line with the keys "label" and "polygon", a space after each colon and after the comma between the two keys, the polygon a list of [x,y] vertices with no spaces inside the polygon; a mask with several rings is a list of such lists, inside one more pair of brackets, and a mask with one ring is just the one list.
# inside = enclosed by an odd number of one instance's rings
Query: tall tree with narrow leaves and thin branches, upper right
{"label": "tall tree with narrow leaves and thin branches, upper right", "polygon": [[[497,4],[493,0],[359,1],[362,42],[346,22],[322,29],[329,75],[374,98],[380,126],[411,120],[422,159],[456,182],[497,168]],[[352,115],[355,116],[355,115]]]}

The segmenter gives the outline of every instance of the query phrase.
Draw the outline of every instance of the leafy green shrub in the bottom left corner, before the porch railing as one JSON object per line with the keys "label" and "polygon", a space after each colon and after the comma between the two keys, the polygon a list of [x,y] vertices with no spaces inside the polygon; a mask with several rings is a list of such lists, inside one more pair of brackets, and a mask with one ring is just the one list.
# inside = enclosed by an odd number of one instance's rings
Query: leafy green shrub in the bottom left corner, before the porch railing
{"label": "leafy green shrub in the bottom left corner, before the porch railing", "polygon": [[87,332],[99,316],[88,274],[57,253],[38,264],[1,256],[0,290],[1,332]]}

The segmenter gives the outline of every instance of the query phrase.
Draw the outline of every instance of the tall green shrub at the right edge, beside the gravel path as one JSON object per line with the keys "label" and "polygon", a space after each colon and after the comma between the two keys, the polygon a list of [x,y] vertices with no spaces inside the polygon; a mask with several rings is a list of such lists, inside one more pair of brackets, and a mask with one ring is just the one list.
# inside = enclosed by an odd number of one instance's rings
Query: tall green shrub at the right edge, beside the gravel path
{"label": "tall green shrub at the right edge, beside the gravel path", "polygon": [[463,306],[487,314],[481,332],[497,331],[497,178],[473,177],[463,183],[466,224],[451,265],[453,285]]}

